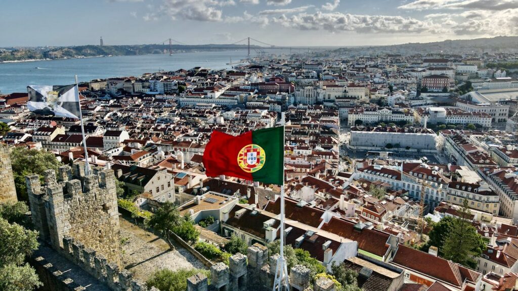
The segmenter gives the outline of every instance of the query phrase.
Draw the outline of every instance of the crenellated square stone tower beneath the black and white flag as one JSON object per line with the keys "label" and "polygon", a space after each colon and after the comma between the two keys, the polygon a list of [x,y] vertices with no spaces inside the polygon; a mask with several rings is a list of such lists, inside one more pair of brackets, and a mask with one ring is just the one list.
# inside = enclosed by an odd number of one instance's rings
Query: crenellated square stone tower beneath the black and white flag
{"label": "crenellated square stone tower beneath the black and white flag", "polygon": [[84,174],[84,163],[44,172],[44,185],[37,175],[26,177],[27,194],[35,228],[40,238],[55,250],[63,238],[80,241],[85,250],[95,250],[108,262],[121,266],[120,226],[115,176],[112,170],[94,169]]}

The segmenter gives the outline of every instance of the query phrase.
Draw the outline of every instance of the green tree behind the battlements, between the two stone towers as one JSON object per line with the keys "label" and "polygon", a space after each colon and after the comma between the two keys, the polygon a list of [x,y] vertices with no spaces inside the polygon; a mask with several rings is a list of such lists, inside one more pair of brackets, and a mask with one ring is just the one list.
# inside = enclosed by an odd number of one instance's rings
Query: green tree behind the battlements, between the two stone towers
{"label": "green tree behind the battlements, between the two stone towers", "polygon": [[19,200],[27,199],[27,186],[25,176],[41,174],[48,169],[56,170],[61,166],[54,154],[46,151],[29,150],[26,148],[13,148],[11,151],[12,172],[15,178],[16,193]]}

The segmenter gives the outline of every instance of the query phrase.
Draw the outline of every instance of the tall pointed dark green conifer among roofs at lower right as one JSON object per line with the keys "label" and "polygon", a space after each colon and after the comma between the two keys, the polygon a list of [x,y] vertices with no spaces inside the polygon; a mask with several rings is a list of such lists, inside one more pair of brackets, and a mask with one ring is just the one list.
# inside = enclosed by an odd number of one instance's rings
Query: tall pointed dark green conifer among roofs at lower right
{"label": "tall pointed dark green conifer among roofs at lower right", "polygon": [[482,236],[469,221],[471,211],[468,200],[463,200],[463,206],[444,239],[443,257],[470,268],[476,268],[477,262],[473,256],[480,256],[486,245]]}

